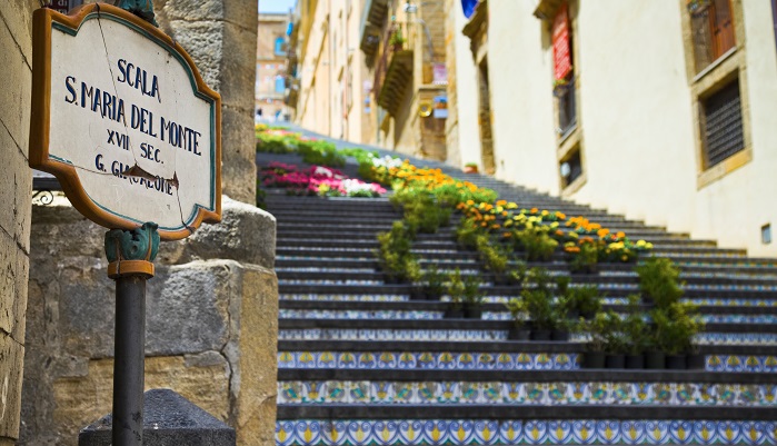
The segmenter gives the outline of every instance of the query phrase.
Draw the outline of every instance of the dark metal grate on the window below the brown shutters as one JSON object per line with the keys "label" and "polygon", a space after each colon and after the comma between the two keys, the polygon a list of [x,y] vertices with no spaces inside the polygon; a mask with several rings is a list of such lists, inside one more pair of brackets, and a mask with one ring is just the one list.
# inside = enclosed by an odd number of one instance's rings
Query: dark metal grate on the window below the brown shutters
{"label": "dark metal grate on the window below the brown shutters", "polygon": [[710,168],[745,148],[739,81],[735,80],[703,102],[705,156]]}

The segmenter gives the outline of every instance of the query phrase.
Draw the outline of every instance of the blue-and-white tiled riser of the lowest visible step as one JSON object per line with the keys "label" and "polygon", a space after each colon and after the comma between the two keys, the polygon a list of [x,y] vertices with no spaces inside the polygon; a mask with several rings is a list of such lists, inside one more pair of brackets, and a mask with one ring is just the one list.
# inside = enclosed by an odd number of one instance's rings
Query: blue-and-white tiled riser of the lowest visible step
{"label": "blue-and-white tiled riser of the lowest visible step", "polygon": [[276,444],[290,445],[763,445],[774,420],[279,420]]}

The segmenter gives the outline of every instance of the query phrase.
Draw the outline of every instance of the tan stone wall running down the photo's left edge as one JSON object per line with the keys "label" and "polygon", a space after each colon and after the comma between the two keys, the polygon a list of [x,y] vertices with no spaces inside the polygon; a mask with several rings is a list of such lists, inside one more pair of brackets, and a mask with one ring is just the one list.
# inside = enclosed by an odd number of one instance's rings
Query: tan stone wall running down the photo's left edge
{"label": "tan stone wall running down the photo's left edge", "polygon": [[19,436],[32,174],[27,166],[32,83],[32,10],[0,2],[0,446]]}

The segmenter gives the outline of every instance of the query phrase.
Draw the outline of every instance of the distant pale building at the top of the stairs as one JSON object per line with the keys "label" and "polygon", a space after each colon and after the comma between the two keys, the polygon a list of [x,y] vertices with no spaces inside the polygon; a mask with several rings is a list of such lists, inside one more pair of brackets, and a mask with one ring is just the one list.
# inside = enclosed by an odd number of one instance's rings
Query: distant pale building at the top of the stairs
{"label": "distant pale building at the top of the stairs", "polygon": [[257,42],[256,113],[262,119],[289,118],[286,96],[289,14],[260,13]]}

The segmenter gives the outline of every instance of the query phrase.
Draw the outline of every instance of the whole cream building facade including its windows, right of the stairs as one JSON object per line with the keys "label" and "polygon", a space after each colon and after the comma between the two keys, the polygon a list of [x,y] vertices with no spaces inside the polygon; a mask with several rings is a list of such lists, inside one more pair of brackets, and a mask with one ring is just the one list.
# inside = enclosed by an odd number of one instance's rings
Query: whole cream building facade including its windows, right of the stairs
{"label": "whole cream building facade including its windows, right of the stairs", "polygon": [[502,179],[776,256],[777,207],[764,198],[777,194],[774,9],[481,0],[464,27],[479,161]]}

